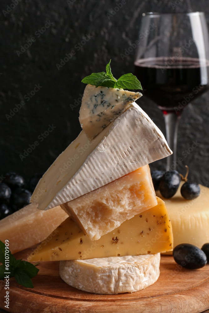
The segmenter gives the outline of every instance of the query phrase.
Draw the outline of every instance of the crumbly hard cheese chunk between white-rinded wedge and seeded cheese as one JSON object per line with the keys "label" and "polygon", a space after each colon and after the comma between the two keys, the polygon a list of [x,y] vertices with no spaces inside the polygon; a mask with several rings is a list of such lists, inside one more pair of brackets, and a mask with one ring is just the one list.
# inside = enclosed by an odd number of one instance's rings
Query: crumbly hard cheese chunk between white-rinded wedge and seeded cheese
{"label": "crumbly hard cheese chunk between white-rinded wedge and seeded cheese", "polygon": [[91,240],[157,205],[149,165],[62,204]]}

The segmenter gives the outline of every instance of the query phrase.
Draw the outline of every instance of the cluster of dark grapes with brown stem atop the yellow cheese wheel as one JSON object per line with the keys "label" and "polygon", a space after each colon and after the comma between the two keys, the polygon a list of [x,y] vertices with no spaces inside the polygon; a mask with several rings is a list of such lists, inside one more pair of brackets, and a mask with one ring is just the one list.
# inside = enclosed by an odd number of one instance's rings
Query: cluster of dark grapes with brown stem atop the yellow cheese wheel
{"label": "cluster of dark grapes with brown stem atop the yellow cheese wheel", "polygon": [[[171,198],[175,195],[180,185],[182,175],[175,170],[168,172],[151,172],[154,190],[159,190],[164,198]],[[187,176],[187,175],[186,175]],[[200,186],[196,182],[187,181],[181,186],[181,195],[186,200],[192,200],[200,195]]]}

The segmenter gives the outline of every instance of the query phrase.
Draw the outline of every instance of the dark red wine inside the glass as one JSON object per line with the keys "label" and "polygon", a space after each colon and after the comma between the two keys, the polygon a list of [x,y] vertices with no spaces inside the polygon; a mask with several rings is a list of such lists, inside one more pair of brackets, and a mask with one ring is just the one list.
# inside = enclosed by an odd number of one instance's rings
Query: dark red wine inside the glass
{"label": "dark red wine inside the glass", "polygon": [[141,59],[135,61],[135,75],[143,84],[144,95],[164,114],[172,111],[179,115],[191,100],[208,89],[208,66],[209,61],[197,58]]}

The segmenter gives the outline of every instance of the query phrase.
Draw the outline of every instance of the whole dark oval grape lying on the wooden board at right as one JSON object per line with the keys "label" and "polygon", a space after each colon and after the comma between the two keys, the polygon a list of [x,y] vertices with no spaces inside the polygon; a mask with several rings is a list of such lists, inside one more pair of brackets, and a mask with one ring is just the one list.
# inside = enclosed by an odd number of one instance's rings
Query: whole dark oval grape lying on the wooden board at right
{"label": "whole dark oval grape lying on the wooden board at right", "polygon": [[200,269],[207,263],[206,254],[193,244],[179,244],[173,249],[173,257],[186,269]]}

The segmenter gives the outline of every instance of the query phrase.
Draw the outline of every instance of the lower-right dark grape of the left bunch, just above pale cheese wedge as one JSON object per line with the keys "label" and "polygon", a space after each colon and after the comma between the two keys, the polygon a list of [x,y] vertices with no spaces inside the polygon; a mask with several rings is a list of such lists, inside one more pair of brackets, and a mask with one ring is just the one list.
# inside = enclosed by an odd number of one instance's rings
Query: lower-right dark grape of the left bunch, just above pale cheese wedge
{"label": "lower-right dark grape of the left bunch, just above pale cheese wedge", "polygon": [[31,192],[24,188],[16,189],[11,196],[12,208],[14,211],[23,208],[25,205],[29,204]]}

